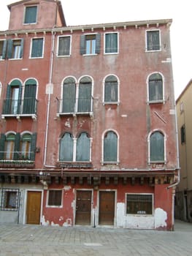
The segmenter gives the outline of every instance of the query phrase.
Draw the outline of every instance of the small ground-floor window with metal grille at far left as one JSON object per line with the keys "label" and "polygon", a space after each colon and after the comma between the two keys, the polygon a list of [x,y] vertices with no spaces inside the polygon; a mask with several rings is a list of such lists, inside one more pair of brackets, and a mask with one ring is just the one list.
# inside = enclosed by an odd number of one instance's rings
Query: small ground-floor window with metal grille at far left
{"label": "small ground-floor window with metal grille at far left", "polygon": [[2,189],[1,211],[18,211],[19,189]]}

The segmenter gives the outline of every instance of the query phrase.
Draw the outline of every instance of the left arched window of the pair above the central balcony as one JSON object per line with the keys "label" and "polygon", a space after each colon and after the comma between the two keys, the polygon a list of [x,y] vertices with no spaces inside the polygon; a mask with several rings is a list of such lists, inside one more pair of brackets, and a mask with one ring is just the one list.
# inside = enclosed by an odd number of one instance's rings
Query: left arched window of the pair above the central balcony
{"label": "left arched window of the pair above the central balcony", "polygon": [[63,89],[63,113],[74,113],[76,97],[76,86],[74,78],[66,78],[64,80]]}

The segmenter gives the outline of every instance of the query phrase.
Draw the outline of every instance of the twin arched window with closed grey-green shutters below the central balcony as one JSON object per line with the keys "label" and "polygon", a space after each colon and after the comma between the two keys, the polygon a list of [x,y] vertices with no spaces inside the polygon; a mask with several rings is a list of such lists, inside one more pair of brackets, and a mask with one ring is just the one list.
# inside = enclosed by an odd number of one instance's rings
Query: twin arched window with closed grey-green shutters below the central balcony
{"label": "twin arched window with closed grey-green shutters below the central balcony", "polygon": [[89,162],[91,159],[91,138],[87,132],[78,138],[66,132],[60,140],[59,161]]}

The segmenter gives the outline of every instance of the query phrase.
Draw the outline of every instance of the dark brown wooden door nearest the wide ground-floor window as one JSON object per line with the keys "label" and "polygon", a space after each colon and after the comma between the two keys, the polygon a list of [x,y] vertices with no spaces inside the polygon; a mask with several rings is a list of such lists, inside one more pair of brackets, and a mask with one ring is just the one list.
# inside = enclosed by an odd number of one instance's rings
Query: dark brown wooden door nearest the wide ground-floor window
{"label": "dark brown wooden door nearest the wide ground-floor window", "polygon": [[115,192],[99,192],[99,225],[114,225]]}

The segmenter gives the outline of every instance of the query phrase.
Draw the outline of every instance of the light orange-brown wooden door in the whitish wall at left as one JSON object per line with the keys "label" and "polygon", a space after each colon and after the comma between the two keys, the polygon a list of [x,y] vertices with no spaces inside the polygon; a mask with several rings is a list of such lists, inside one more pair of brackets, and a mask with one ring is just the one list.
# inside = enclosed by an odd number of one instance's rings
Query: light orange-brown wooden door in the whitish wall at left
{"label": "light orange-brown wooden door in the whitish wall at left", "polygon": [[27,224],[40,223],[42,192],[28,191],[27,193]]}

